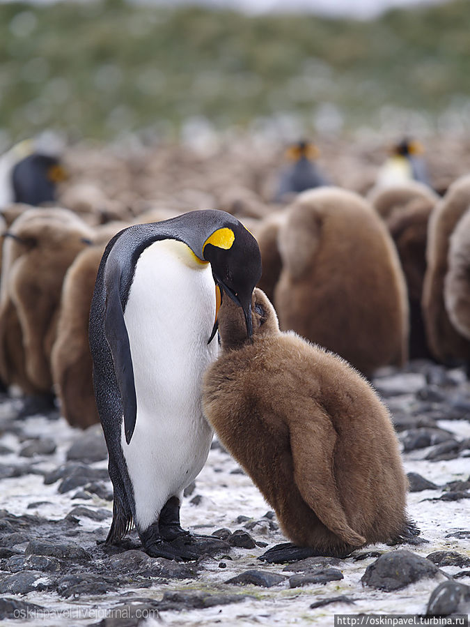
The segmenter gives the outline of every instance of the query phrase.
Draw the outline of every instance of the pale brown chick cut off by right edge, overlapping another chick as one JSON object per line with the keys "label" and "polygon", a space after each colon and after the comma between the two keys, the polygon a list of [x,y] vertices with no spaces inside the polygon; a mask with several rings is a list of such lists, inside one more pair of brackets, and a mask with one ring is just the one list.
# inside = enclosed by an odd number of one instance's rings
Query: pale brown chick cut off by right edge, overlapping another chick
{"label": "pale brown chick cut off by right edge, overlapping another chick", "polygon": [[453,326],[470,340],[470,206],[451,235],[444,303]]}

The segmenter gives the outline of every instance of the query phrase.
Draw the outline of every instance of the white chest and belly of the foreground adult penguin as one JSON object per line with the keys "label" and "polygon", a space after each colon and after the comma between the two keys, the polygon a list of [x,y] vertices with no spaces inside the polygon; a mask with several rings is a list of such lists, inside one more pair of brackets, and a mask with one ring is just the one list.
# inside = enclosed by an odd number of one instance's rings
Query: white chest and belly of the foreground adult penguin
{"label": "white chest and belly of the foreground adult penguin", "polygon": [[207,459],[212,430],[203,418],[201,384],[217,357],[217,339],[207,345],[215,312],[210,264],[175,240],[143,251],[124,313],[137,399],[129,445],[121,430],[136,522],[143,528]]}

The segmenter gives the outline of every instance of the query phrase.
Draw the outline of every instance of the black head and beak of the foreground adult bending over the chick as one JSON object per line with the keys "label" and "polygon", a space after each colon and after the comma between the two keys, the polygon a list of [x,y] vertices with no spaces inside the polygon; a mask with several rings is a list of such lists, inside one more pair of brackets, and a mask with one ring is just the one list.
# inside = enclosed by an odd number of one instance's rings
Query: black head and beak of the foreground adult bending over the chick
{"label": "black head and beak of the foreground adult bending over the chick", "polygon": [[261,277],[261,254],[256,239],[233,218],[207,238],[203,257],[212,266],[216,284],[242,308],[246,332],[251,338],[251,294]]}

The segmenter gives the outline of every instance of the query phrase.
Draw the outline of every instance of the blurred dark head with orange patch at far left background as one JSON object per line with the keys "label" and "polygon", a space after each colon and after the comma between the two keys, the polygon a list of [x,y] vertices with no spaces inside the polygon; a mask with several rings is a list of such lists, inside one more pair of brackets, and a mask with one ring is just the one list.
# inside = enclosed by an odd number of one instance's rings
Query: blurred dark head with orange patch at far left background
{"label": "blurred dark head with orange patch at far left background", "polygon": [[53,202],[56,183],[65,179],[65,172],[56,157],[34,153],[13,167],[15,202],[33,206]]}

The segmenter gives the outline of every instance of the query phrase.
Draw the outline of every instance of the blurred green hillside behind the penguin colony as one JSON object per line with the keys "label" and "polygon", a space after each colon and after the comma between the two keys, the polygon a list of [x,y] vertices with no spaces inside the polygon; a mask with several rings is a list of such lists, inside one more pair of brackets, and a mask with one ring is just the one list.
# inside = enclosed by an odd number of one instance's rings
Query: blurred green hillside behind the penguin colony
{"label": "blurred green hillside behind the penguin colony", "polygon": [[288,114],[345,130],[383,126],[398,110],[463,130],[469,33],[468,0],[373,22],[119,0],[1,4],[0,129],[108,139],[193,116],[226,128]]}

